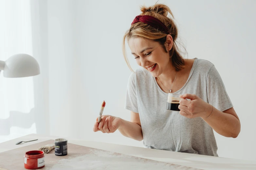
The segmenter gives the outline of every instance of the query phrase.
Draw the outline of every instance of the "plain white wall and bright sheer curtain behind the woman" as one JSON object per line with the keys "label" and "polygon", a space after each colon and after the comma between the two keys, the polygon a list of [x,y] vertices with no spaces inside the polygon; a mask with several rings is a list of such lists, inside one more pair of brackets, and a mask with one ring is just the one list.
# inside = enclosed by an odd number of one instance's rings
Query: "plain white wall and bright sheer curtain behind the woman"
{"label": "plain white wall and bright sheer curtain behind the woman", "polygon": [[[143,147],[119,132],[94,133],[92,128],[103,100],[107,103],[104,114],[130,120],[130,112],[124,109],[130,70],[122,56],[122,38],[140,13],[139,6],[155,2],[0,0],[5,14],[0,18],[0,60],[24,52],[41,66],[41,75],[19,80],[33,82],[29,92],[22,94],[18,87],[9,86],[18,80],[0,74],[0,142],[39,133]],[[237,138],[215,133],[219,156],[255,160],[256,1],[159,2],[171,8],[188,58],[215,65],[240,118]],[[133,60],[130,55],[136,69]],[[4,100],[7,87],[17,93]],[[30,98],[31,105],[22,110],[13,98]],[[23,120],[22,113],[30,119]]]}

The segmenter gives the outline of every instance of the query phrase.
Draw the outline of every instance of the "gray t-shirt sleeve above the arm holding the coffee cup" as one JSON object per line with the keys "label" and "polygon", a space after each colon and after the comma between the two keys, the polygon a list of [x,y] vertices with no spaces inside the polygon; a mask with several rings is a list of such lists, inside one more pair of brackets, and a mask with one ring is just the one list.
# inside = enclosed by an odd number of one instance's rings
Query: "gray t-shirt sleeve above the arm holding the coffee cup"
{"label": "gray t-shirt sleeve above the arm holding the coffee cup", "polygon": [[214,65],[207,76],[207,97],[208,103],[221,112],[233,107],[224,83]]}

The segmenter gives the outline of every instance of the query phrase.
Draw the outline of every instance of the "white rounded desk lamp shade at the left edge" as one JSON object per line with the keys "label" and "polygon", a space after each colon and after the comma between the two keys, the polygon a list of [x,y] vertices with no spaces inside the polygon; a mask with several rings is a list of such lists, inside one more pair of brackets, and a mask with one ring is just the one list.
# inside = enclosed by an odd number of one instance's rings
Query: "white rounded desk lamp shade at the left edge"
{"label": "white rounded desk lamp shade at the left edge", "polygon": [[36,59],[28,54],[15,54],[6,61],[0,60],[0,72],[4,77],[19,78],[36,76],[40,74],[40,67]]}

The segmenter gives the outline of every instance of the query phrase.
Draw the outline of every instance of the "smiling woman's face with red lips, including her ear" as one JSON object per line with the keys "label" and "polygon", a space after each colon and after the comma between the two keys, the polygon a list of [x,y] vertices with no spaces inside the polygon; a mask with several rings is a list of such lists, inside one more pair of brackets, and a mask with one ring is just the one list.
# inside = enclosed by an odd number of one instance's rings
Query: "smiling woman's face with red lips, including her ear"
{"label": "smiling woman's face with red lips, including her ear", "polygon": [[[172,37],[167,36],[166,42],[165,47],[169,51],[172,47]],[[165,52],[158,42],[144,38],[130,38],[128,44],[137,64],[149,71],[153,77],[158,77],[170,66],[169,52]]]}

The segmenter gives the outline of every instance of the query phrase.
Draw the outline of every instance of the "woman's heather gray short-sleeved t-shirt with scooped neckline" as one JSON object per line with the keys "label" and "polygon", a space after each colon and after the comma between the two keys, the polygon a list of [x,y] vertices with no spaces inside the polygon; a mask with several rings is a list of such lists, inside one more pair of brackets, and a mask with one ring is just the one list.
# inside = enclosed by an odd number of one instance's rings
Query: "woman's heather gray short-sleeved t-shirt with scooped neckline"
{"label": "woman's heather gray short-sleeved t-shirt with scooped neckline", "polygon": [[[220,111],[233,107],[216,68],[202,59],[195,58],[187,82],[175,93],[196,94]],[[200,117],[189,119],[166,110],[167,95],[144,68],[130,75],[125,108],[139,113],[144,146],[218,156],[212,127]]]}

